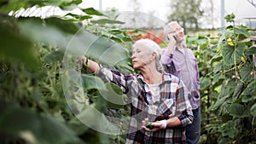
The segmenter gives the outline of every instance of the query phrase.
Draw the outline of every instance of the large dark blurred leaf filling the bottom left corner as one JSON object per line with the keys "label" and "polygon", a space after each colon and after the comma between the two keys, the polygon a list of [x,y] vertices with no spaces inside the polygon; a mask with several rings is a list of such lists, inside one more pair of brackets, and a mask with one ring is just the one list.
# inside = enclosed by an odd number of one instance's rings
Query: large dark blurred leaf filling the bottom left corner
{"label": "large dark blurred leaf filling the bottom left corner", "polygon": [[[23,138],[28,143],[80,143],[73,130],[44,113],[39,114],[25,108],[13,107],[1,102],[1,133]],[[6,106],[6,107],[3,107]]]}

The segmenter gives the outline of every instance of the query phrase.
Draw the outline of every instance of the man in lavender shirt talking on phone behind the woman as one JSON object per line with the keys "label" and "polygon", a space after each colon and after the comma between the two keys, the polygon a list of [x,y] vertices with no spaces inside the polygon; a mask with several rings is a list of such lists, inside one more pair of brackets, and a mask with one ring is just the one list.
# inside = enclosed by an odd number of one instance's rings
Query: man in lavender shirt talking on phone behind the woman
{"label": "man in lavender shirt talking on phone behind the woman", "polygon": [[186,143],[195,144],[201,135],[201,96],[200,77],[195,55],[184,43],[184,29],[176,21],[167,24],[164,29],[167,46],[162,49],[162,64],[166,72],[183,80],[191,94],[190,104],[195,116],[193,124],[187,126]]}

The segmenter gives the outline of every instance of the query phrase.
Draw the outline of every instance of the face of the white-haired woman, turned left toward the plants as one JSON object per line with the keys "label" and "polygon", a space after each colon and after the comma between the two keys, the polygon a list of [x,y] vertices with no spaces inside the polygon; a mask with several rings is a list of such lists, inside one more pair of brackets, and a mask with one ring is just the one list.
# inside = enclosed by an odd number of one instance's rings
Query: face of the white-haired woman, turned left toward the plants
{"label": "face of the white-haired woman, turned left toward the plants", "polygon": [[152,52],[145,46],[137,46],[132,50],[132,64],[135,70],[141,70],[152,61]]}

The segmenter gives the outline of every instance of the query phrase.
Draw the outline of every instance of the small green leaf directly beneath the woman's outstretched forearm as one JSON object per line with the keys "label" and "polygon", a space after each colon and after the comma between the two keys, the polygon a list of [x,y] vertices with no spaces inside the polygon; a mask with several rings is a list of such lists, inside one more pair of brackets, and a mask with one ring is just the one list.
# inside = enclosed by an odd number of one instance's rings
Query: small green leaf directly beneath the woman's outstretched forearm
{"label": "small green leaf directly beneath the woman's outstretched forearm", "polygon": [[81,75],[83,79],[83,86],[84,89],[99,89],[99,90],[106,90],[106,86],[101,78],[98,78],[96,76],[90,76],[86,74]]}

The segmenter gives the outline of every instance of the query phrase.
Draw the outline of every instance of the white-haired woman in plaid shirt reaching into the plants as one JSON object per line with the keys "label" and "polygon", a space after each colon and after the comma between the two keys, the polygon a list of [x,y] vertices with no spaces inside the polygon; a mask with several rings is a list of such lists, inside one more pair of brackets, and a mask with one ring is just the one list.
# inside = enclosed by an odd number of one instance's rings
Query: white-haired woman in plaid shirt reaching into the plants
{"label": "white-haired woman in plaid shirt reaching into the plants", "polygon": [[131,121],[126,143],[185,143],[184,127],[193,122],[189,91],[179,78],[162,71],[158,44],[149,39],[133,44],[132,64],[139,74],[109,70],[84,56],[79,60],[129,96]]}

